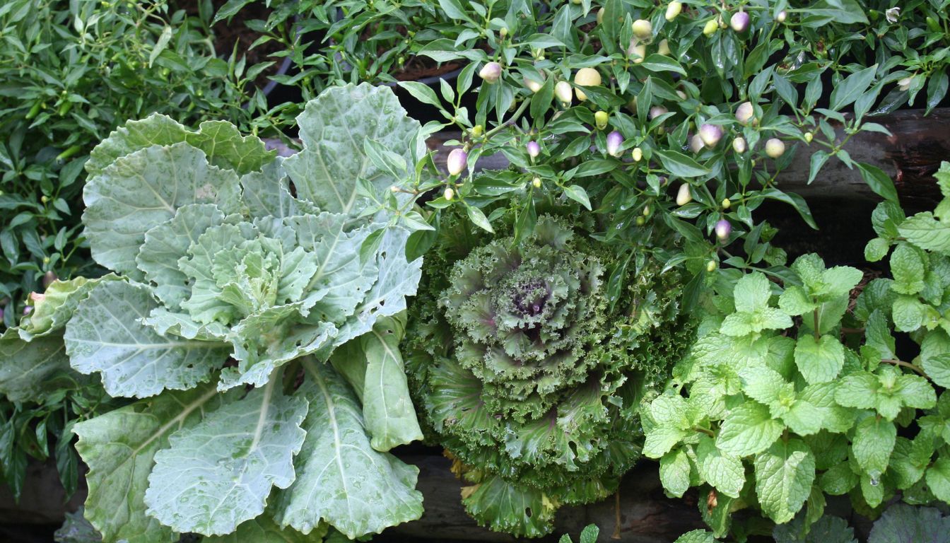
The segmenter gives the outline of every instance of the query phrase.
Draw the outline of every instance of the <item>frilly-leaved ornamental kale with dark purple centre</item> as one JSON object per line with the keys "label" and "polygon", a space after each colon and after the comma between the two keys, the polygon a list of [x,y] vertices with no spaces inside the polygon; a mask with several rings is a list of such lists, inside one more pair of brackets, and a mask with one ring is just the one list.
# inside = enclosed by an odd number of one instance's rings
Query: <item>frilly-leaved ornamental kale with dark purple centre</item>
{"label": "frilly-leaved ornamental kale with dark purple centre", "polygon": [[561,505],[617,489],[639,456],[639,400],[692,327],[679,276],[646,263],[631,266],[612,307],[617,258],[563,219],[539,217],[522,242],[482,243],[470,227],[444,217],[412,304],[412,388],[432,439],[471,483],[468,513],[538,536]]}

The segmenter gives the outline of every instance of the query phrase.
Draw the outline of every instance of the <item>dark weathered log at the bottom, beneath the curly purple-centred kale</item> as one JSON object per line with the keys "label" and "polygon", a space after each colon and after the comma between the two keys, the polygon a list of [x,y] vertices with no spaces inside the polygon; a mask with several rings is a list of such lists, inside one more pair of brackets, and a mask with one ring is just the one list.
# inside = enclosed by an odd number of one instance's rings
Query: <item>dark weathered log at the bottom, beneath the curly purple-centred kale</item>
{"label": "dark weathered log at the bottom, beneath the curly purple-centred kale", "polygon": [[[462,482],[449,471],[442,456],[407,456],[419,466],[419,490],[425,496],[422,518],[396,526],[385,535],[392,541],[433,538],[439,540],[512,543],[519,539],[490,532],[477,526],[462,506]],[[588,524],[600,528],[599,541],[607,543],[669,543],[679,535],[702,528],[694,500],[671,499],[663,495],[655,462],[644,460],[624,477],[620,488],[619,539],[612,539],[616,523],[613,497],[584,507],[563,507],[558,511],[556,533],[576,535]],[[549,540],[557,541],[556,536]],[[542,540],[544,541],[544,540]]]}

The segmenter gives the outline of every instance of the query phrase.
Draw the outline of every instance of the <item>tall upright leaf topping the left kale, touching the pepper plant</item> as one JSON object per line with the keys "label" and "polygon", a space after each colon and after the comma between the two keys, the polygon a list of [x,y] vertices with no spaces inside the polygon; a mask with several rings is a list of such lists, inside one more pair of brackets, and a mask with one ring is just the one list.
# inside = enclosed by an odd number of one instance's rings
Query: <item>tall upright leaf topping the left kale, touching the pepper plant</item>
{"label": "tall upright leaf topping the left kale, touching the pepper plant", "polygon": [[284,161],[298,198],[323,211],[351,213],[359,204],[359,182],[383,194],[402,180],[377,167],[366,154],[372,140],[414,164],[425,144],[419,123],[409,119],[388,87],[364,83],[331,87],[307,104],[297,119],[304,148]]}

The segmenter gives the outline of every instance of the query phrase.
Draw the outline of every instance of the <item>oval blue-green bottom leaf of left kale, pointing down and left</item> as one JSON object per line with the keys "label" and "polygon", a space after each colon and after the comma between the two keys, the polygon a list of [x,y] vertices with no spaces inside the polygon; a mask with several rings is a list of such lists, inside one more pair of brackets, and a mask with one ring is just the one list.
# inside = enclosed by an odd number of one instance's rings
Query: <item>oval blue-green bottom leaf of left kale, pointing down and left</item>
{"label": "oval blue-green bottom leaf of left kale, pointing down and left", "polygon": [[279,380],[169,437],[148,477],[148,514],[179,532],[223,535],[263,513],[272,487],[294,482],[307,401],[282,395]]}

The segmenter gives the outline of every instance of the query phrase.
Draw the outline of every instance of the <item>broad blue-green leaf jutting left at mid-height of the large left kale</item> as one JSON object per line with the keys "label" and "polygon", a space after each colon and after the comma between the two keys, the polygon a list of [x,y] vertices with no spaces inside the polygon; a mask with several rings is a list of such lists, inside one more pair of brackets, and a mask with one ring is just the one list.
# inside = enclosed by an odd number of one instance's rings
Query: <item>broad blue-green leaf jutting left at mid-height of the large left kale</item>
{"label": "broad blue-green leaf jutting left at mid-height of the large left kale", "polygon": [[113,397],[145,398],[208,380],[228,358],[227,345],[162,337],[140,322],[156,307],[142,285],[96,285],[66,324],[72,367],[82,374],[99,372]]}

